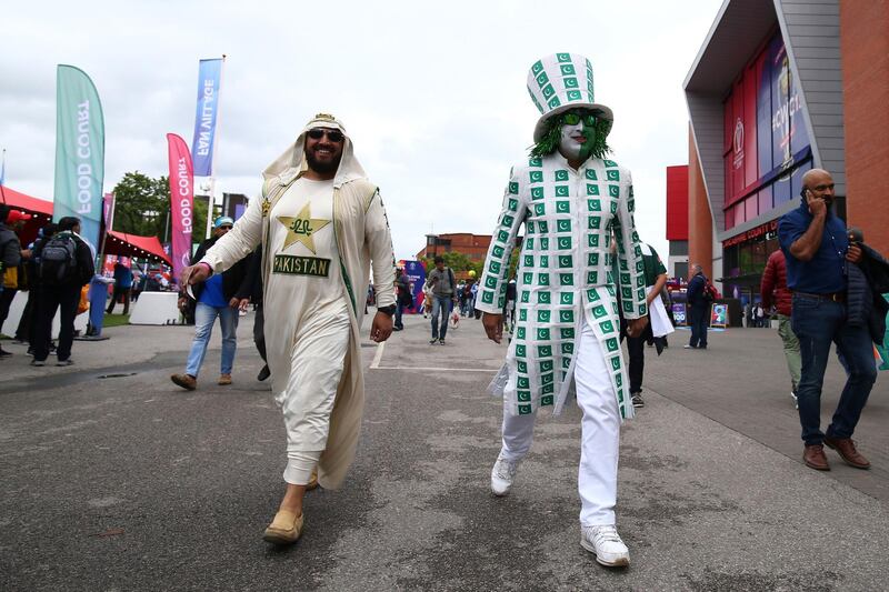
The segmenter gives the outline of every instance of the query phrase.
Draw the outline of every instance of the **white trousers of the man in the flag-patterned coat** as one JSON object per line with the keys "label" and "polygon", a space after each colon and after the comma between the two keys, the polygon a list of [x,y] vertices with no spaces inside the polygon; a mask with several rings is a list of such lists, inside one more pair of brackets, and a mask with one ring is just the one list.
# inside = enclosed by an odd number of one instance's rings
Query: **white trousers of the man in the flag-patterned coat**
{"label": "white trousers of the man in the flag-patterned coat", "polygon": [[[615,524],[618,495],[618,446],[620,412],[599,340],[586,320],[577,340],[575,385],[577,402],[583,412],[580,437],[580,493],[582,525]],[[503,444],[500,454],[520,461],[531,449],[535,419],[503,411]]]}

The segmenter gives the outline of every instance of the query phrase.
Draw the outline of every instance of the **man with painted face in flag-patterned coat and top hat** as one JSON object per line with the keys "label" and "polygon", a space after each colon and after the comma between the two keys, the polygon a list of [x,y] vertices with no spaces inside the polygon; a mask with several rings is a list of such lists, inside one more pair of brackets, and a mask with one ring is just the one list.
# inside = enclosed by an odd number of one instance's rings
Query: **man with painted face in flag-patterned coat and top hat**
{"label": "man with painted face in flag-patterned coat and top hat", "polygon": [[525,224],[515,337],[491,384],[503,395],[502,448],[491,491],[509,493],[530,450],[538,410],[561,412],[573,391],[583,413],[581,545],[603,565],[628,565],[615,504],[620,423],[633,408],[618,307],[631,335],[648,322],[632,180],[629,170],[606,158],[613,114],[593,99],[587,58],[557,53],[539,60],[528,91],[541,113],[536,144],[530,159],[512,168],[476,301],[488,337],[499,343],[510,254]]}

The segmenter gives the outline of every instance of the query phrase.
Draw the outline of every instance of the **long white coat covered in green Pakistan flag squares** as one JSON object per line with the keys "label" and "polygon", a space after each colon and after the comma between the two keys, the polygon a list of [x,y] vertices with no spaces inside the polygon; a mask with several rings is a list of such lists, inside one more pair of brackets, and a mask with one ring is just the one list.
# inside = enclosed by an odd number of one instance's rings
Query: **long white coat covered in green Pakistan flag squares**
{"label": "long white coat covered in green Pakistan flag squares", "polygon": [[[573,382],[575,340],[586,315],[611,370],[621,418],[633,415],[616,299],[619,288],[627,319],[648,313],[632,212],[630,171],[613,161],[589,159],[575,171],[556,152],[513,167],[476,300],[483,312],[502,312],[510,254],[525,224],[515,335],[492,383],[512,414],[549,405],[561,412]],[[609,252],[612,232],[618,278]]]}

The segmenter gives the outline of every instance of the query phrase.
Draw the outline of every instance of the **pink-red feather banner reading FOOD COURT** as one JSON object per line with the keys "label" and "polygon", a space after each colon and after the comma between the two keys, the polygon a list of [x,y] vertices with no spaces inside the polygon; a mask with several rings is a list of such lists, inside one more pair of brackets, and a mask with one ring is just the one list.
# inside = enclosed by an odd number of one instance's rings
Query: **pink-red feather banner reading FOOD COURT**
{"label": "pink-red feather banner reading FOOD COURT", "polygon": [[167,134],[170,161],[170,228],[173,278],[179,278],[191,261],[191,223],[194,209],[194,175],[186,141]]}

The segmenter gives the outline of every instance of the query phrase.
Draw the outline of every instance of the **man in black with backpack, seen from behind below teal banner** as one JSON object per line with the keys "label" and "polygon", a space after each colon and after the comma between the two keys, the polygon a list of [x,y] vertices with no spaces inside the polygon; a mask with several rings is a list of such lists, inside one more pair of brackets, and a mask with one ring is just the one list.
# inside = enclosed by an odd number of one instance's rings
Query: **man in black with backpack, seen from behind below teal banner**
{"label": "man in black with backpack, seen from behind below teal banner", "polygon": [[80,303],[81,289],[96,274],[93,254],[80,238],[80,219],[64,217],[59,220],[59,231],[49,239],[40,252],[40,292],[38,293],[34,359],[31,365],[46,365],[52,337],[52,319],[59,310],[59,345],[56,365],[71,365],[71,345],[74,341],[74,317]]}

